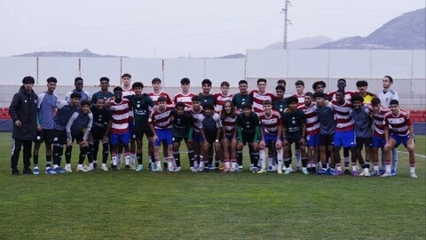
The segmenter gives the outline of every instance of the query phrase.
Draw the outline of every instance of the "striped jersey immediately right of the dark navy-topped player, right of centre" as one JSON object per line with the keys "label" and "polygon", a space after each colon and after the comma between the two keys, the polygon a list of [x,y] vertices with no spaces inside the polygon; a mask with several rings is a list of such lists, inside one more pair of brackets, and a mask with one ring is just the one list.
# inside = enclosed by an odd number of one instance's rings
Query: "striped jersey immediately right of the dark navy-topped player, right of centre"
{"label": "striped jersey immediately right of the dark navy-topped player, right of centre", "polygon": [[355,122],[350,115],[351,102],[345,100],[343,105],[339,105],[336,100],[332,100],[331,104],[335,112],[335,132],[346,132],[355,129]]}

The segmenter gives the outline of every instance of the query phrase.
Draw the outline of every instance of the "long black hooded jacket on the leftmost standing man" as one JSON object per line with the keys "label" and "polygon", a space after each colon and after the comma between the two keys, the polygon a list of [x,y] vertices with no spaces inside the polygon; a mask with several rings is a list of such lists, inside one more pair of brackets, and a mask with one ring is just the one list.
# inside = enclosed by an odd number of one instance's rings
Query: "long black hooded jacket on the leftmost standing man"
{"label": "long black hooded jacket on the leftmost standing man", "polygon": [[[12,138],[18,140],[34,140],[36,138],[36,116],[37,116],[36,92],[26,92],[24,86],[20,92],[13,95],[9,115],[12,117]],[[20,127],[15,122],[20,120]]]}

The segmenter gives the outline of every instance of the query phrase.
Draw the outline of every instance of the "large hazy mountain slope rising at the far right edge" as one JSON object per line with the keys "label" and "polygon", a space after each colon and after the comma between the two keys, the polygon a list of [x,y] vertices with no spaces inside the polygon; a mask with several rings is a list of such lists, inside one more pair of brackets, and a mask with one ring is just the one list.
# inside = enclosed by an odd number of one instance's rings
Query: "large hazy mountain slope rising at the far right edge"
{"label": "large hazy mountain slope rising at the far right edge", "polygon": [[425,49],[426,8],[406,12],[366,37],[351,36],[321,44],[326,49]]}

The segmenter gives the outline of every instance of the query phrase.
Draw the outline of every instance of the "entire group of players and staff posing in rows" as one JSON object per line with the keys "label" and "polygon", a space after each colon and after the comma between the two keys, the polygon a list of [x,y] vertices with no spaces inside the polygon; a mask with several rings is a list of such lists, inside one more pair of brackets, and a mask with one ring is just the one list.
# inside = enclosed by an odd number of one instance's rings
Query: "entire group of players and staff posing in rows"
{"label": "entire group of players and staff posing in rows", "polygon": [[[356,82],[357,91],[348,91],[341,78],[337,90],[327,93],[324,81],[313,83],[309,92],[304,81],[297,80],[293,95],[286,93],[283,79],[276,83],[275,92],[267,91],[264,78],[256,81],[252,91],[241,80],[240,92],[235,94],[229,92],[226,81],[220,84],[220,92],[211,93],[212,83],[204,79],[202,91],[196,94],[190,90],[191,80],[184,77],[182,91],[171,98],[162,91],[160,78],[152,80],[153,91],[146,93],[144,84],[131,83],[126,73],[122,86],[113,92],[109,79],[100,77],[100,91],[93,95],[83,90],[83,78],[76,77],[75,89],[67,92],[65,100],[54,92],[55,77],[46,82],[46,91],[37,95],[35,78],[25,76],[10,104],[13,175],[20,175],[21,148],[22,173],[40,174],[42,143],[45,174],[72,172],[73,146],[79,148],[76,172],[117,171],[122,165],[125,171],[140,172],[144,152],[149,171],[180,172],[180,149],[185,142],[191,172],[355,177],[396,176],[397,148],[402,144],[409,154],[410,176],[417,178],[412,119],[409,111],[399,108],[391,76],[383,76],[383,91],[377,93],[367,92],[364,80]],[[245,146],[248,155],[243,155]],[[249,159],[247,170],[243,158]]]}

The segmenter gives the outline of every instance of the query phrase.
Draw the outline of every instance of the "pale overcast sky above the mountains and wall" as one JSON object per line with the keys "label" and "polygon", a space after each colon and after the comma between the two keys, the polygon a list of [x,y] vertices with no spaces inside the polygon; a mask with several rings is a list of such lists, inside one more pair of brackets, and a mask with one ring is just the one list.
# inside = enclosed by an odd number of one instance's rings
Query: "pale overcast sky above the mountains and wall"
{"label": "pale overcast sky above the mountains and wall", "polygon": [[[367,36],[424,0],[292,0],[288,40]],[[0,56],[217,57],[282,41],[285,0],[0,0]]]}

